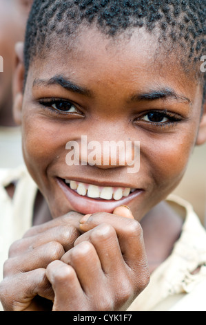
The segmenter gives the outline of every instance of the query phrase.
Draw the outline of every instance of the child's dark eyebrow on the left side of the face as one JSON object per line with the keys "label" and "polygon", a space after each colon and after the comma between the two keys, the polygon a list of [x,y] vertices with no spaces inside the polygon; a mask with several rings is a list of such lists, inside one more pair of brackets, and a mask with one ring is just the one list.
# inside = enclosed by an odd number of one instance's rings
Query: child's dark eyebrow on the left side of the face
{"label": "child's dark eyebrow on the left side of the face", "polygon": [[54,77],[48,80],[35,79],[33,82],[33,87],[51,85],[59,85],[68,91],[72,91],[73,93],[79,93],[80,95],[92,97],[92,91],[85,89],[84,87],[78,86],[77,84],[74,84],[74,82],[71,82],[67,77],[64,77],[63,75],[55,75]]}

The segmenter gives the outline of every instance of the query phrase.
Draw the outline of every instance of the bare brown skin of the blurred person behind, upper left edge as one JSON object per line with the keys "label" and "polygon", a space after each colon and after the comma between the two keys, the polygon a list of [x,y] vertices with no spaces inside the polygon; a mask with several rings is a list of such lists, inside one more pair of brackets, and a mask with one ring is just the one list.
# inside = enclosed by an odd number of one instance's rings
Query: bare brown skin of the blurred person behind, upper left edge
{"label": "bare brown skin of the blurred person behind, upper left edge", "polygon": [[31,0],[0,0],[0,126],[15,126],[12,115],[12,75],[15,68],[15,44],[23,41]]}

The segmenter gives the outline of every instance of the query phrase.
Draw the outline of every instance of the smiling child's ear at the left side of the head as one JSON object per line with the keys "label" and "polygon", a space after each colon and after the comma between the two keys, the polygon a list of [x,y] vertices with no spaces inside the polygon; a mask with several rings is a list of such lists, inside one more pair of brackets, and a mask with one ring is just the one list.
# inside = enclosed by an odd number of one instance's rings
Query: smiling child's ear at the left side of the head
{"label": "smiling child's ear at the left side of the head", "polygon": [[23,104],[23,43],[19,42],[15,46],[16,66],[13,77],[13,115],[17,125],[21,125],[22,104]]}

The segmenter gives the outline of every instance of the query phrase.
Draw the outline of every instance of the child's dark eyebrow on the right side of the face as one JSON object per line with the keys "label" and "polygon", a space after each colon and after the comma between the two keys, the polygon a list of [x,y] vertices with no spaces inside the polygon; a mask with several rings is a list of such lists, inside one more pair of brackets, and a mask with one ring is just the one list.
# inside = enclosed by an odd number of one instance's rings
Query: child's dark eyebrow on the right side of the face
{"label": "child's dark eyebrow on the right side of the face", "polygon": [[169,98],[172,98],[174,100],[177,100],[178,102],[188,102],[189,104],[192,104],[191,100],[189,98],[185,97],[184,95],[176,93],[174,89],[170,88],[163,88],[158,90],[151,90],[147,93],[140,93],[133,95],[130,97],[131,102],[141,102],[141,101],[154,101],[154,100],[167,100]]}

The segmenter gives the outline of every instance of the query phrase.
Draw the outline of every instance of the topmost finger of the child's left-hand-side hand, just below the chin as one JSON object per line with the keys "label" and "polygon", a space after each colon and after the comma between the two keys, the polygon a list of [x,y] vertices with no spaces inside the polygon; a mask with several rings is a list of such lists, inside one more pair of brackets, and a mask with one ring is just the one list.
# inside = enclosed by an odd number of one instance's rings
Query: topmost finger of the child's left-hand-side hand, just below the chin
{"label": "topmost finger of the child's left-hand-side hand, just below the chin", "polygon": [[25,233],[23,238],[41,234],[42,232],[45,232],[50,228],[58,227],[59,225],[70,225],[74,228],[79,229],[79,221],[81,220],[82,216],[82,214],[79,214],[77,212],[70,212],[68,214],[65,214],[64,216],[59,216],[58,218],[53,219],[52,221],[48,221],[47,223],[43,223],[42,225],[36,225],[30,228],[30,230]]}

